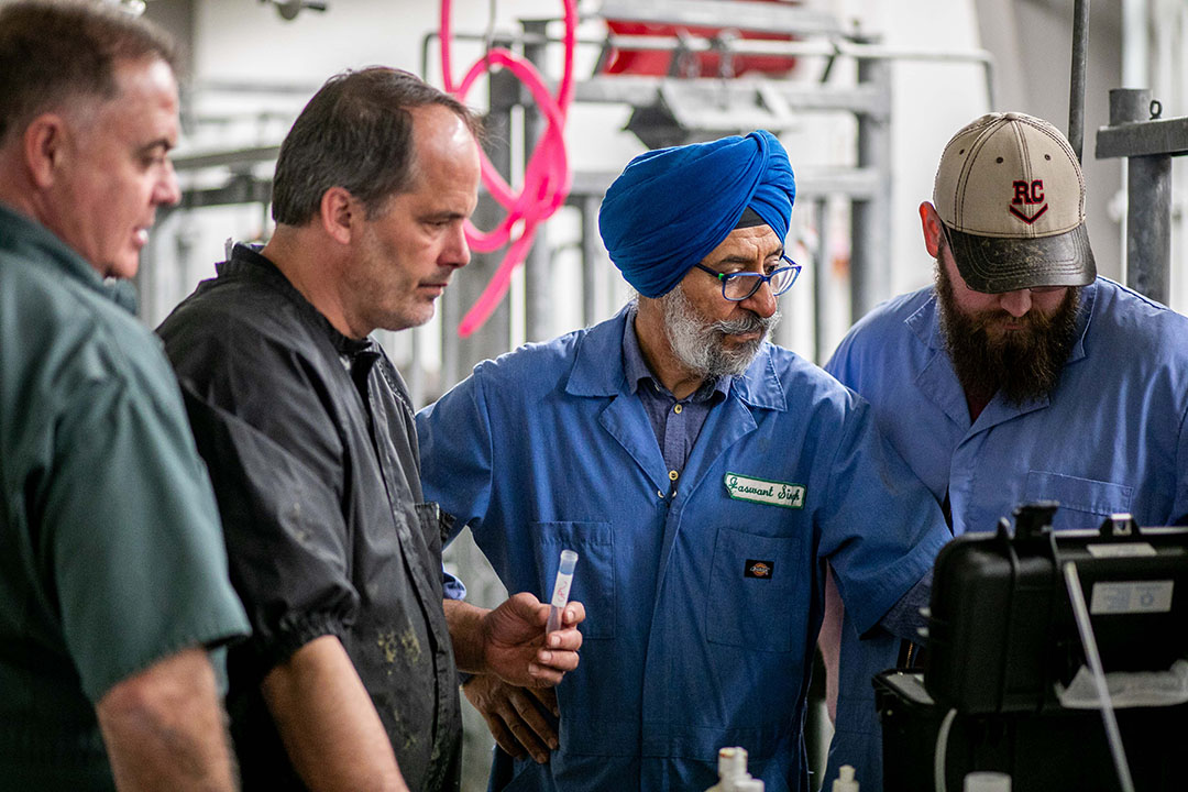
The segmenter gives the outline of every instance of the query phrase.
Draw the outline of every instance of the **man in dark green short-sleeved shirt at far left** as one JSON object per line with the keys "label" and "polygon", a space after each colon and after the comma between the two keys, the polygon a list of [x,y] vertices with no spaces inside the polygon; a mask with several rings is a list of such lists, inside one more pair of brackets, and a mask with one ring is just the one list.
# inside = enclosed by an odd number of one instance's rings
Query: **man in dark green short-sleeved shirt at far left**
{"label": "man in dark green short-sleeved shirt at far left", "polygon": [[233,790],[247,632],[177,385],[105,278],[178,198],[170,45],[0,9],[0,790]]}

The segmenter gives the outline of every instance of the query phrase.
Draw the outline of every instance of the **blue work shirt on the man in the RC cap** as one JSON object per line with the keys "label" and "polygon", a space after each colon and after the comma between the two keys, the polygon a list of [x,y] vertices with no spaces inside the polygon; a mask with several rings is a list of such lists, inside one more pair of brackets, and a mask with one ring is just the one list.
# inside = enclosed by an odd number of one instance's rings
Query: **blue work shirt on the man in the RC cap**
{"label": "blue work shirt on the man in the RC cap", "polygon": [[[948,493],[956,534],[1045,499],[1060,501],[1056,530],[1097,528],[1114,512],[1148,526],[1188,514],[1188,318],[1098,278],[1081,290],[1075,338],[1048,397],[1013,406],[997,394],[973,423],[931,287],[871,311],[826,368],[871,401],[936,501]],[[826,783],[849,764],[866,792],[881,779],[879,734],[840,727],[873,711],[870,678],[895,666],[898,641],[859,641],[846,622]]]}

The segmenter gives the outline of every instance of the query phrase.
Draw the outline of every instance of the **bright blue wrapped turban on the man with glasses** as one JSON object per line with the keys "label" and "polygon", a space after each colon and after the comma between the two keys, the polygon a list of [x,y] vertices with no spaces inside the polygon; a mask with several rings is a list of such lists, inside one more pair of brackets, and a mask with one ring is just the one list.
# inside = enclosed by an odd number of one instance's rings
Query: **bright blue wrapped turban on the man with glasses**
{"label": "bright blue wrapped turban on the man with glasses", "polygon": [[636,157],[606,191],[598,224],[627,283],[659,297],[721,245],[747,207],[783,241],[795,199],[788,152],[759,129]]}

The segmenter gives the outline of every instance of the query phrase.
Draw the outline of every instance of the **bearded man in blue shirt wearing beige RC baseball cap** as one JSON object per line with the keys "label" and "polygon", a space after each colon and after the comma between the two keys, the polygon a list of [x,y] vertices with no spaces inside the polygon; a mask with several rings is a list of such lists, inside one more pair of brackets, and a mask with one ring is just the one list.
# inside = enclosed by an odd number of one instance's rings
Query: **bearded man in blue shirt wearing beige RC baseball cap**
{"label": "bearded man in blue shirt wearing beige RC baseball cap", "polygon": [[[1064,137],[1019,113],[977,119],[946,146],[920,218],[935,285],[871,311],[826,368],[871,401],[953,533],[1036,500],[1060,501],[1055,530],[1188,514],[1188,319],[1097,277]],[[898,646],[859,644],[830,594],[827,664],[840,627],[840,679],[862,693],[842,691],[839,724],[860,722],[851,710],[873,710],[870,677]],[[854,765],[865,792],[880,760],[877,734],[839,731],[826,780]]]}

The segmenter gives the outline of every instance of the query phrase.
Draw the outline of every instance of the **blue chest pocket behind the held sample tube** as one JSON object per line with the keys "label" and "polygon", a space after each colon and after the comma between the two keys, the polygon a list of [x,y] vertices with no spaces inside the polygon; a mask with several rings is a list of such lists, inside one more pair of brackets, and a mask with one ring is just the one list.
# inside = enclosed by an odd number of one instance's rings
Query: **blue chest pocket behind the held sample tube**
{"label": "blue chest pocket behind the held sample tube", "polygon": [[561,551],[573,550],[577,553],[577,564],[569,598],[586,607],[586,620],[579,626],[582,638],[614,638],[614,532],[611,524],[562,520],[531,522],[530,528],[536,537],[533,556],[541,601],[552,598]]}

